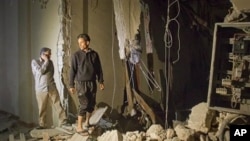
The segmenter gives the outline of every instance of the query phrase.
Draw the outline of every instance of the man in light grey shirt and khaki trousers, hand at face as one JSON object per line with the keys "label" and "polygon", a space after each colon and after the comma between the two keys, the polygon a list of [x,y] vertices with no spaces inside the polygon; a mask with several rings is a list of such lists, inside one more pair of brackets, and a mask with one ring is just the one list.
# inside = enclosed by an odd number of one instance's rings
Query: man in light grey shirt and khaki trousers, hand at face
{"label": "man in light grey shirt and khaki trousers, hand at face", "polygon": [[61,106],[54,81],[54,65],[50,60],[50,56],[51,49],[44,47],[40,51],[40,57],[33,59],[31,62],[39,113],[39,126],[37,129],[46,128],[46,109],[49,100],[51,100],[56,112],[59,114],[59,125],[68,125],[66,113]]}

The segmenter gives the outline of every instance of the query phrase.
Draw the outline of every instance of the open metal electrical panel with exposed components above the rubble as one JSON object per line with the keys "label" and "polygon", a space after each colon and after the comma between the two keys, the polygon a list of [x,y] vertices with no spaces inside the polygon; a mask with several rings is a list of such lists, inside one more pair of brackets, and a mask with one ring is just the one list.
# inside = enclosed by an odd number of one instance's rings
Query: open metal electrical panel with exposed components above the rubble
{"label": "open metal electrical panel with exposed components above the rubble", "polygon": [[208,107],[250,115],[250,22],[216,23]]}

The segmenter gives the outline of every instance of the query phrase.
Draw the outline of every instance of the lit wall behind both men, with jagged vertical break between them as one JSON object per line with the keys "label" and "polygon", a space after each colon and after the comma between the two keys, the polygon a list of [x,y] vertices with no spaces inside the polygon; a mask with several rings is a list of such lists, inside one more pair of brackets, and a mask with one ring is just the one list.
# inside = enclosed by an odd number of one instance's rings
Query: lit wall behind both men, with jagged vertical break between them
{"label": "lit wall behind both men, with jagged vertical break between them", "polygon": [[[70,11],[68,11],[69,15],[67,16],[69,17],[67,18],[69,18],[70,22],[68,22],[71,25],[67,25],[68,29],[64,27],[63,31],[60,31],[60,28],[65,26],[64,23],[60,23],[61,18],[65,18],[58,11],[60,10],[59,7],[62,6],[60,1],[49,1],[46,5],[42,5],[39,1],[29,0],[23,2],[1,1],[1,17],[4,20],[1,20],[0,29],[3,31],[1,33],[4,34],[1,34],[3,38],[1,38],[0,43],[4,51],[1,52],[0,60],[5,67],[1,68],[0,75],[3,78],[2,80],[7,80],[0,82],[1,97],[3,97],[0,99],[1,110],[17,115],[27,123],[37,122],[37,102],[30,63],[31,59],[39,57],[39,50],[43,46],[52,48],[52,60],[55,66],[54,78],[61,100],[65,102],[63,98],[67,97],[68,94],[69,57],[72,52],[78,49],[76,36],[82,32],[90,34],[92,38],[91,47],[93,46],[95,50],[100,52],[100,57],[103,60],[106,89],[103,92],[98,92],[100,94],[97,96],[97,101],[112,105],[114,108],[122,103],[123,79],[120,78],[123,74],[113,76],[114,73],[110,73],[112,71],[110,64],[112,63],[118,65],[114,66],[116,72],[122,72],[122,64],[120,60],[116,59],[118,58],[118,48],[113,46],[117,44],[117,41],[116,37],[112,35],[112,33],[115,33],[115,29],[112,31],[112,28],[114,28],[112,27],[112,1],[110,0],[108,3],[84,2],[79,3],[79,1],[73,0],[68,3],[74,7],[68,9]],[[88,17],[92,18],[88,19]],[[107,17],[109,20],[99,22],[102,17]],[[63,35],[60,35],[61,32],[63,32]],[[62,38],[67,40],[62,41]],[[63,62],[61,62],[62,60]],[[64,64],[64,68],[60,70],[62,64]],[[62,76],[60,76],[61,73]],[[116,88],[113,87],[114,79],[117,80],[115,82]],[[117,98],[119,94],[121,96]],[[77,100],[75,96],[72,97],[73,104],[69,105],[69,109],[70,112],[74,113],[77,108]],[[54,113],[51,109],[48,112],[48,117]],[[56,124],[57,116],[54,115],[54,119],[49,118],[49,120],[49,124]]]}

